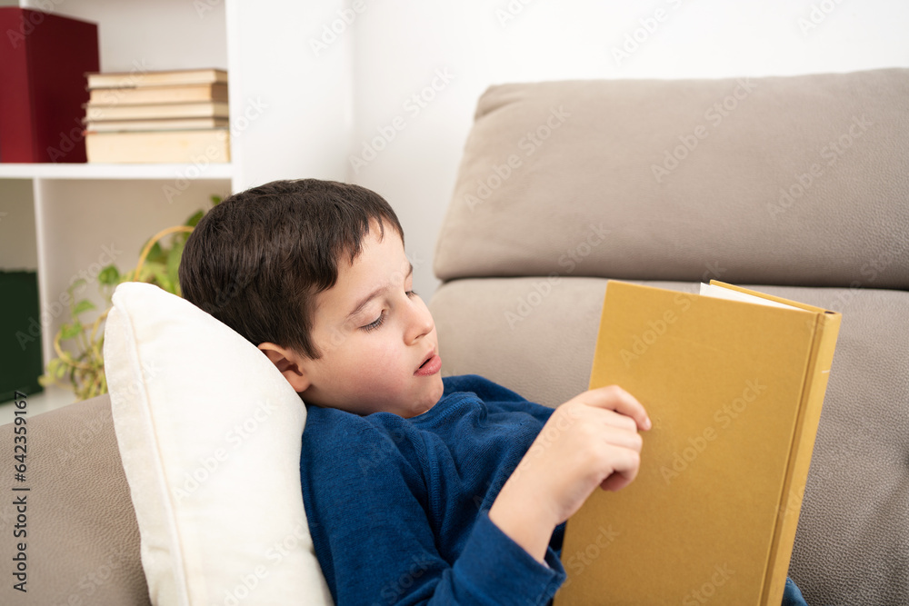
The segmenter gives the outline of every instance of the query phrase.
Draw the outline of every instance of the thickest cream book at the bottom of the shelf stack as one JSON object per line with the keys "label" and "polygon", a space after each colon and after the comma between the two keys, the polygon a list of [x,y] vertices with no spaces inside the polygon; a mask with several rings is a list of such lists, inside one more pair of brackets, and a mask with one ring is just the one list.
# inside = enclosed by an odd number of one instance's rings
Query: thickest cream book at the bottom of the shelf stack
{"label": "thickest cream book at the bottom of the shelf stack", "polygon": [[230,162],[230,133],[226,129],[85,133],[91,163],[209,163]]}

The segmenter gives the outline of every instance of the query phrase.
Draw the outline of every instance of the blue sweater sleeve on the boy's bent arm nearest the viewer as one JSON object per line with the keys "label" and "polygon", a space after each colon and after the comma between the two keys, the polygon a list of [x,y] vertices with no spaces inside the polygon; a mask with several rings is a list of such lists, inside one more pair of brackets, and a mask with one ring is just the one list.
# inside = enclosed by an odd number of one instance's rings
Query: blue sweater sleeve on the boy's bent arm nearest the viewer
{"label": "blue sweater sleeve on the boy's bent arm nearest the viewer", "polygon": [[398,450],[401,443],[368,427],[355,443],[304,474],[306,514],[316,522],[316,554],[336,606],[517,606],[553,597],[565,573],[552,548],[545,565],[536,561],[482,511],[457,560],[445,561],[426,514],[422,472]]}

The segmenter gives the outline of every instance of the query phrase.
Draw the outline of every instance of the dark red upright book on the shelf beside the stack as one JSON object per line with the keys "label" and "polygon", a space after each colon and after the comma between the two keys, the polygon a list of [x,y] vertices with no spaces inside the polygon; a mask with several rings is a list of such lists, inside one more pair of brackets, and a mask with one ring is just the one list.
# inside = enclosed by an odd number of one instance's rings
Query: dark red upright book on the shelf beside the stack
{"label": "dark red upright book on the shelf beside the stack", "polygon": [[98,69],[97,25],[0,7],[0,162],[85,162],[85,73]]}

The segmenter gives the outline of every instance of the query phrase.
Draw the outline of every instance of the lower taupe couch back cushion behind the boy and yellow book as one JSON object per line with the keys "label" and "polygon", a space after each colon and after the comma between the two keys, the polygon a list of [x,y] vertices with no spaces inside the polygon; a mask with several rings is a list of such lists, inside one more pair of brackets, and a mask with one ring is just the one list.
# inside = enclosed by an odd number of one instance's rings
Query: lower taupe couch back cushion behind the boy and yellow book
{"label": "lower taupe couch back cushion behind the boy and yellow book", "polygon": [[[443,373],[478,373],[531,401],[565,402],[587,388],[605,284],[443,284],[430,303]],[[810,604],[909,603],[909,293],[742,285],[843,313],[791,576]]]}

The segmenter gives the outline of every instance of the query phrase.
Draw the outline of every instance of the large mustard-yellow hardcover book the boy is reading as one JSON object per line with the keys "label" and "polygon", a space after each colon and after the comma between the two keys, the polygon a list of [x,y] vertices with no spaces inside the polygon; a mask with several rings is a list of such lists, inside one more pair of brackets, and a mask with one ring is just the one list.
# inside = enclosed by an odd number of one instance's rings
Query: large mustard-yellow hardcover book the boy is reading
{"label": "large mustard-yellow hardcover book the boy is reading", "polygon": [[555,606],[779,606],[840,321],[715,280],[610,281],[590,388],[654,427],[634,482],[569,519]]}

